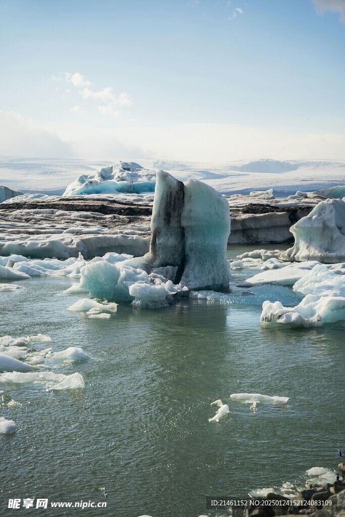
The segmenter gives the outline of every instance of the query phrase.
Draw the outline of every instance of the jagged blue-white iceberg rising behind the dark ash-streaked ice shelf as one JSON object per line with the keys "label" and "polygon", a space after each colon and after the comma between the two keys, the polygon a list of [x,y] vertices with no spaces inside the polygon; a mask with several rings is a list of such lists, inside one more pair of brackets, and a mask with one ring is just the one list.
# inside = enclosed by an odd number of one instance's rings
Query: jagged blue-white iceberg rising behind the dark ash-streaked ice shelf
{"label": "jagged blue-white iceberg rising behind the dark ash-streaked ice shelf", "polygon": [[156,173],[144,169],[135,162],[123,162],[103,167],[94,174],[83,174],[73,181],[64,192],[64,196],[80,194],[114,194],[128,192],[141,194],[153,192]]}

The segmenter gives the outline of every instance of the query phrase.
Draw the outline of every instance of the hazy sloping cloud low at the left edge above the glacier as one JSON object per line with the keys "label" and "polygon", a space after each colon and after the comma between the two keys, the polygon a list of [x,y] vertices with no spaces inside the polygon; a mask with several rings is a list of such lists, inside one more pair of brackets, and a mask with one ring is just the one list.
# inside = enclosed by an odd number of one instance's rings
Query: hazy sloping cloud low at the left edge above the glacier
{"label": "hazy sloping cloud low at the left edge above the glacier", "polygon": [[19,113],[0,110],[0,154],[28,157],[73,156],[71,146],[54,131]]}

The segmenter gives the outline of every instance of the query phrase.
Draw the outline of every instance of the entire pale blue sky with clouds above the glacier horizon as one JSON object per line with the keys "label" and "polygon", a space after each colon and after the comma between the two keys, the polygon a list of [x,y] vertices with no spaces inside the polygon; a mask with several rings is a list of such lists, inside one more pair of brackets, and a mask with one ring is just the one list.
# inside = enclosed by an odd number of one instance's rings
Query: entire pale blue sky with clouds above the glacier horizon
{"label": "entire pale blue sky with clouds above the glacier horizon", "polygon": [[345,159],[345,0],[0,0],[0,154]]}

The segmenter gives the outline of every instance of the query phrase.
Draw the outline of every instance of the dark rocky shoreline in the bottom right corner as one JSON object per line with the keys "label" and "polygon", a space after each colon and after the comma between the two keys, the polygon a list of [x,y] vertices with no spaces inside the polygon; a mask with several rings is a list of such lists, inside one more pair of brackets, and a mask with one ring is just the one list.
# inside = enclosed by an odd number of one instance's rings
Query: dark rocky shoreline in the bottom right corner
{"label": "dark rocky shoreline in the bottom right corner", "polygon": [[345,517],[345,463],[339,463],[341,477],[334,483],[308,484],[293,497],[268,493],[251,497],[246,506],[233,507],[233,517],[273,517],[274,515],[308,515],[310,517]]}

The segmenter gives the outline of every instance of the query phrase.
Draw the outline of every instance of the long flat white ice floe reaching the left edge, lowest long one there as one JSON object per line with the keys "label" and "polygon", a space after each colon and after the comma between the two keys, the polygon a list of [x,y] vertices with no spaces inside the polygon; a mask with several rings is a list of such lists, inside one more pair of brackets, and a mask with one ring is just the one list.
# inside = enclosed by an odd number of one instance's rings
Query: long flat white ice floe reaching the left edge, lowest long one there
{"label": "long flat white ice floe reaching the left edge, lowest long one there", "polygon": [[77,389],[85,387],[83,376],[80,373],[73,373],[71,375],[54,372],[2,373],[0,374],[0,383],[43,384],[47,386],[47,389],[51,390]]}

